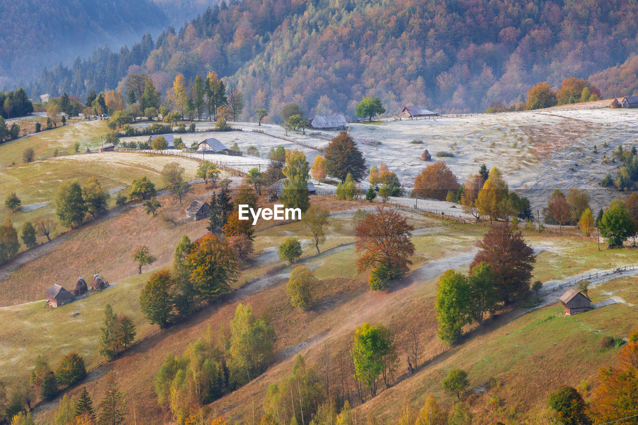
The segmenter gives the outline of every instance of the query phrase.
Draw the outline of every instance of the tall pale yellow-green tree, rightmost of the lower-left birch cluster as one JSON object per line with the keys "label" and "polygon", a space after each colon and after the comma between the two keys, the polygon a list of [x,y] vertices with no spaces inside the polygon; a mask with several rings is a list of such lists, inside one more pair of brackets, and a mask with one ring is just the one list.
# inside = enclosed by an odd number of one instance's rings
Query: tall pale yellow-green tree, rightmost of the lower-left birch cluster
{"label": "tall pale yellow-green tree, rightmost of the lower-left birch cluster", "polygon": [[228,368],[235,380],[244,383],[265,371],[274,356],[275,333],[264,319],[257,319],[249,305],[237,305],[230,322]]}

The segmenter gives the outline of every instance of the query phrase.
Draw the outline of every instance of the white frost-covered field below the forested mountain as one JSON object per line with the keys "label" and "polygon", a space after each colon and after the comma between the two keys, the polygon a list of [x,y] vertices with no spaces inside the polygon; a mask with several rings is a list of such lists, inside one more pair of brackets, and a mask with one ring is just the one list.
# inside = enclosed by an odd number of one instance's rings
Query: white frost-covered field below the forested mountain
{"label": "white frost-covered field below the forested mountain", "polygon": [[[197,125],[199,130],[212,126],[212,123]],[[302,150],[312,164],[330,138],[338,134],[320,131],[311,136],[313,131],[306,130],[305,136],[296,131],[286,136],[282,127],[272,124],[257,126],[239,122],[232,126],[241,127],[243,131],[183,134],[182,140],[189,146],[193,141],[214,137],[226,146],[237,142],[244,152],[253,145],[262,157],[271,147],[283,145]],[[542,208],[547,196],[557,187],[567,190],[572,186],[588,190],[592,206],[599,208],[619,195],[600,187],[598,182],[607,173],[614,176],[621,165],[611,161],[619,144],[625,148],[638,147],[638,110],[551,108],[539,112],[350,124],[350,134],[369,166],[385,162],[408,189],[415,175],[426,166],[420,156],[427,148],[433,161],[445,161],[460,182],[470,173],[476,173],[480,164],[500,168],[510,189],[528,196],[535,209]],[[423,143],[410,143],[413,140]],[[597,153],[593,152],[594,145]],[[436,153],[442,151],[452,152],[454,157],[436,157]],[[604,155],[609,157],[607,164],[603,162]]]}

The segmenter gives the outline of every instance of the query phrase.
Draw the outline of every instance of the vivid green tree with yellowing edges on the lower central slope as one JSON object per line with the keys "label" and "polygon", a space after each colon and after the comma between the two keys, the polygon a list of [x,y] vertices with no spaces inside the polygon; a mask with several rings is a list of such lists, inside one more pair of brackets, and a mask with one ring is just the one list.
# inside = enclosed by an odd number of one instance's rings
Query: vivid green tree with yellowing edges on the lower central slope
{"label": "vivid green tree with yellowing edges on the lower central slope", "polygon": [[363,382],[373,397],[383,372],[383,356],[392,350],[388,335],[383,325],[371,326],[366,322],[357,328],[352,338],[350,356],[355,366],[355,379]]}

